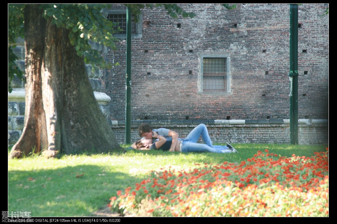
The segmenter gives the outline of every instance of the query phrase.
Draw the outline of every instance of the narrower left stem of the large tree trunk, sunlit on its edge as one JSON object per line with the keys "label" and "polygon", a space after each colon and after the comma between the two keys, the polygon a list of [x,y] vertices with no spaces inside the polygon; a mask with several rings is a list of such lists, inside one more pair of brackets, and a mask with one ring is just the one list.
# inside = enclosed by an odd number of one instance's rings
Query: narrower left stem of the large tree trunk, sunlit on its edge
{"label": "narrower left stem of the large tree trunk, sunlit on its edge", "polygon": [[12,147],[10,157],[20,157],[21,153],[27,155],[32,150],[38,153],[48,145],[41,89],[45,20],[36,5],[28,4],[25,8],[25,36],[27,82],[25,86],[25,125],[18,142]]}

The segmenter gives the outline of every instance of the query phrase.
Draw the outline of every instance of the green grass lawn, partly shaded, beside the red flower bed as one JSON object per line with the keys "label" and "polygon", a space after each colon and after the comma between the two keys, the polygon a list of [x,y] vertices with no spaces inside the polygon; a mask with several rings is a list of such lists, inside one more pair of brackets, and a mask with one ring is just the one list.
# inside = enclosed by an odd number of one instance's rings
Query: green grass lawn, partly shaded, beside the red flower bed
{"label": "green grass lawn, partly shaded, beside the red flower bed", "polygon": [[[313,156],[325,145],[232,144],[239,153],[170,153],[134,151],[125,154],[65,155],[8,159],[8,211],[28,211],[32,217],[93,217],[106,208],[118,190],[134,186],[151,170],[189,169],[195,164],[240,163],[257,151],[290,157]],[[128,146],[123,146],[128,147]]]}

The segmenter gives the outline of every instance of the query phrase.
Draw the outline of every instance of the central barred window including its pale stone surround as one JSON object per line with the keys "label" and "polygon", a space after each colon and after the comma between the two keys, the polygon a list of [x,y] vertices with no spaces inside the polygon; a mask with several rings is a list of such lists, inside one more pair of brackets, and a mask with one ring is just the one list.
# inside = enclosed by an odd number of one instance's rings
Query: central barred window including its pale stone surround
{"label": "central barred window including its pale stone surround", "polygon": [[200,92],[208,94],[229,93],[229,57],[202,57]]}

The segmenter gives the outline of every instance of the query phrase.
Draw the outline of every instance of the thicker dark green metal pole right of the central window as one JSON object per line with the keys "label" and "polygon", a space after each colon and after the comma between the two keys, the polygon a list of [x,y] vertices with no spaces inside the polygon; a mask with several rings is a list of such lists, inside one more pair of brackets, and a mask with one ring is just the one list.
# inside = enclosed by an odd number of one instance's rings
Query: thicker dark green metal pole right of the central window
{"label": "thicker dark green metal pole right of the central window", "polygon": [[290,144],[298,145],[298,5],[290,4]]}

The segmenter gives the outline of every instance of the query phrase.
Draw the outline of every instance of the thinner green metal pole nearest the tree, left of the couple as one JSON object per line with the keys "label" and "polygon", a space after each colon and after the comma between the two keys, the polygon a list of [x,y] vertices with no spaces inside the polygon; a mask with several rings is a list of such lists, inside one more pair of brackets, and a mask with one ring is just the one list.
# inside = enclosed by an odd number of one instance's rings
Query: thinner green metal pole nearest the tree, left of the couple
{"label": "thinner green metal pole nearest the tree, left of the couple", "polygon": [[126,8],[125,144],[131,143],[131,10]]}

